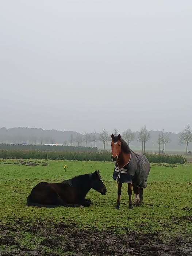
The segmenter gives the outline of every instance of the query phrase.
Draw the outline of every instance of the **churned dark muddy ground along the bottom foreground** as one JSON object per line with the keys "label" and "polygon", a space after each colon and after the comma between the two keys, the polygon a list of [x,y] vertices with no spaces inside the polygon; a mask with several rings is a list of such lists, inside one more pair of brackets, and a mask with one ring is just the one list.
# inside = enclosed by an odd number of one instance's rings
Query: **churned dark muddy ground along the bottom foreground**
{"label": "churned dark muddy ground along the bottom foreground", "polygon": [[[176,219],[175,221],[180,221]],[[189,219],[191,221],[191,219]],[[0,256],[11,255],[131,255],[131,256],[189,256],[192,255],[192,237],[176,237],[162,240],[160,233],[142,234],[124,228],[124,234],[115,229],[99,231],[78,229],[74,223],[24,223],[18,219],[15,225],[0,225]],[[27,232],[31,234],[29,244],[22,246],[20,239]],[[41,237],[35,243],[33,237]],[[3,247],[2,247],[3,245]],[[11,251],[10,251],[11,248]],[[47,252],[47,249],[49,252]]]}

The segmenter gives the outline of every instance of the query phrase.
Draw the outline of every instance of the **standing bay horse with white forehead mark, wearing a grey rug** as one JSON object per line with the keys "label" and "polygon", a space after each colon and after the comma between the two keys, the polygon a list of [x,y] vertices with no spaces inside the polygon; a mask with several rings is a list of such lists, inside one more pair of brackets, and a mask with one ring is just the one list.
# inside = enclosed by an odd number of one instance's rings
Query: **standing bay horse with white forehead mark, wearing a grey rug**
{"label": "standing bay horse with white forehead mark, wearing a grey rug", "polygon": [[143,203],[143,188],[147,187],[150,163],[145,155],[133,152],[120,134],[118,136],[112,134],[111,138],[112,160],[115,161],[113,179],[118,183],[118,198],[115,209],[120,208],[122,183],[128,183],[128,209],[133,209],[132,186],[135,194],[134,206],[140,206]]}

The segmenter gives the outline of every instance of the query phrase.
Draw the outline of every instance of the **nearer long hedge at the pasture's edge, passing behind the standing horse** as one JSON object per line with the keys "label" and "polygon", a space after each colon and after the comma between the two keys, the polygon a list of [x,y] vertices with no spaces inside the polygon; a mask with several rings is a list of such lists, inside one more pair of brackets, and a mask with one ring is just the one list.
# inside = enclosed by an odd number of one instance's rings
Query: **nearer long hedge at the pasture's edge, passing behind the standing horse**
{"label": "nearer long hedge at the pasture's edge, passing behind the standing horse", "polygon": [[[146,154],[150,163],[183,164],[183,156],[168,156],[166,154]],[[79,161],[112,161],[110,152],[54,152],[37,150],[0,150],[0,158],[12,159],[51,159],[51,160],[79,160]],[[186,158],[185,158],[186,161]]]}

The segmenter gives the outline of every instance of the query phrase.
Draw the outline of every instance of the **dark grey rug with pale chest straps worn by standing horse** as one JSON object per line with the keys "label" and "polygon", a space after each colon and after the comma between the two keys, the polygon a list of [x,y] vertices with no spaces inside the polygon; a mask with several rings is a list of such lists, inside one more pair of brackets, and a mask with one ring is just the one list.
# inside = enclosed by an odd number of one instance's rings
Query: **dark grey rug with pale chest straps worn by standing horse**
{"label": "dark grey rug with pale chest straps worn by standing horse", "polygon": [[118,183],[133,183],[134,186],[146,188],[150,163],[145,155],[132,150],[130,152],[130,160],[123,168],[119,168],[116,161],[113,179]]}

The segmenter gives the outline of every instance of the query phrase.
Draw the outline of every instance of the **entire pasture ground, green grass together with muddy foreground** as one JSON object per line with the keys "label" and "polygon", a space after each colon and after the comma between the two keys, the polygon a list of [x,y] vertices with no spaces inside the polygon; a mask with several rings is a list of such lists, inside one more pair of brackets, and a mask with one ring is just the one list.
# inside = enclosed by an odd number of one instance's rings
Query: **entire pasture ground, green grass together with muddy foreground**
{"label": "entire pasture ground, green grass together with muddy foreground", "polygon": [[[47,166],[30,167],[16,160],[3,161],[0,255],[192,254],[192,165],[151,164],[143,206],[128,210],[127,185],[123,184],[120,210],[115,210],[114,163],[46,160]],[[28,194],[40,181],[60,182],[96,169],[107,194],[91,190],[87,195],[91,207],[26,206]]]}

